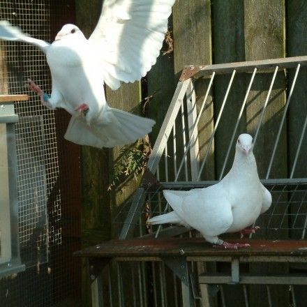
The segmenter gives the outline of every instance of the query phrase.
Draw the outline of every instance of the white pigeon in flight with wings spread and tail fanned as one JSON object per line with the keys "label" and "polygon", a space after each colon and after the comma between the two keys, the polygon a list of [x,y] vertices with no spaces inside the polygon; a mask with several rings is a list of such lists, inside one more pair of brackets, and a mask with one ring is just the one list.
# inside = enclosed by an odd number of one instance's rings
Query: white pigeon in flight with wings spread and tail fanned
{"label": "white pigeon in flight with wings spread and tail fanned", "polygon": [[50,45],[0,21],[0,38],[36,45],[45,52],[52,75],[47,96],[34,82],[47,107],[63,107],[72,117],[65,138],[93,147],[128,144],[151,132],[154,121],[107,105],[103,83],[118,89],[146,75],[162,47],[175,0],[105,0],[89,40],[66,24]]}

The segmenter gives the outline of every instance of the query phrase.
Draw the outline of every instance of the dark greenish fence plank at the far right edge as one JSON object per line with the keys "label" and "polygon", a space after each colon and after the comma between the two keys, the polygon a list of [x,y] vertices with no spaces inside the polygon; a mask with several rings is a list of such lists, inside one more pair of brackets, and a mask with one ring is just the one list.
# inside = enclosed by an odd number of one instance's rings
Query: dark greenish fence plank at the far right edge
{"label": "dark greenish fence plank at the far right edge", "polygon": [[[307,1],[286,1],[287,7],[287,55],[288,57],[296,57],[299,55],[307,54]],[[294,71],[289,73],[289,81],[293,80]],[[301,130],[304,125],[304,121],[307,116],[307,103],[306,103],[306,84],[307,73],[306,68],[301,68],[297,84],[295,86],[292,102],[289,106],[289,119],[288,119],[288,137],[289,137],[289,165],[290,171],[294,163],[294,158],[297,153],[297,147],[299,144],[299,138],[301,136]],[[294,177],[307,177],[306,168],[306,153],[307,153],[307,133],[305,133],[304,141],[301,147],[301,153],[297,160],[297,167],[294,172]],[[299,197],[301,198],[301,197]],[[295,197],[293,200],[297,200]],[[301,201],[301,200],[299,200]],[[293,211],[297,211],[297,207],[293,208]],[[306,214],[306,211],[300,211],[301,214]],[[302,220],[299,220],[301,225],[304,225],[303,216]],[[298,224],[297,224],[298,225]],[[292,239],[299,239],[301,237],[300,231],[292,231],[290,233]],[[293,269],[302,269],[306,271],[306,264],[291,264]],[[294,286],[295,300],[297,306],[304,306],[306,301],[306,286]]]}

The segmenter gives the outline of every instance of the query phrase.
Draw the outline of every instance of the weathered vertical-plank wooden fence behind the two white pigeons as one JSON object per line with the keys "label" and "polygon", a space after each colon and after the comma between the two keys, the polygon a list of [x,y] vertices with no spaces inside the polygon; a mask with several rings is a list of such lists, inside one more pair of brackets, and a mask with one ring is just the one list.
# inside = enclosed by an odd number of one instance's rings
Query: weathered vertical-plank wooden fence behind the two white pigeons
{"label": "weathered vertical-plank wooden fence behind the two white pigeons", "polygon": [[[76,1],[77,24],[82,31],[89,35],[100,13],[100,0]],[[234,61],[252,61],[258,59],[274,59],[280,57],[294,57],[307,54],[307,1],[306,0],[177,0],[174,4],[173,14],[170,17],[170,36],[172,45],[163,46],[163,55],[147,75],[142,83],[123,84],[118,91],[107,89],[107,100],[110,105],[122,110],[134,110],[142,113],[140,101],[151,97],[146,107],[146,116],[156,120],[156,126],[150,135],[153,144],[161,123],[167,112],[167,107],[174,93],[182,68],[186,65],[207,65],[211,63],[229,63]],[[170,51],[170,48],[173,51]],[[170,52],[167,52],[170,51]],[[306,68],[301,68],[306,70]],[[274,139],[278,130],[276,122],[280,121],[281,112],[286,103],[284,91],[280,91],[292,78],[292,73],[285,75],[279,72],[276,85],[272,90],[274,97],[274,109],[269,110],[266,128],[268,133],[262,139],[257,140],[255,155],[266,155],[268,142]],[[230,137],[231,130],[228,126],[234,126],[241,102],[244,99],[245,88],[249,78],[244,76],[234,80],[234,92],[227,101],[224,112],[228,118],[220,122],[220,129],[216,135],[211,158],[206,165],[207,180],[216,179],[223,167],[223,158]],[[225,93],[225,77],[218,77],[210,99],[212,103],[205,111],[202,118],[202,140],[207,140],[214,127],[216,114],[223,101]],[[287,125],[280,138],[278,149],[278,163],[271,170],[271,177],[287,177],[290,166],[293,163],[295,152],[287,153],[288,142],[298,144],[301,125],[304,123],[307,104],[306,73],[296,85],[295,97],[290,105],[290,113],[287,117]],[[202,88],[205,89],[207,80],[197,81],[197,92],[202,98]],[[255,80],[254,93],[263,89],[258,96],[253,95],[253,89],[248,98],[246,111],[239,130],[248,133],[255,132],[255,124],[260,116],[260,108],[267,96],[270,76],[263,74],[262,78]],[[278,103],[276,103],[278,101]],[[271,120],[269,120],[271,118]],[[307,151],[306,142],[303,144]],[[297,148],[293,146],[292,148]],[[261,149],[261,153],[259,152]],[[117,237],[119,229],[112,226],[110,221],[117,213],[121,204],[127,200],[137,187],[138,182],[131,179],[115,186],[107,192],[110,184],[114,162],[119,158],[119,149],[98,151],[96,149],[82,149],[83,172],[83,239],[85,244],[96,244],[98,241]],[[262,159],[265,160],[265,159]],[[264,177],[266,163],[258,162],[260,177]],[[306,177],[307,167],[301,165],[297,177]],[[256,269],[259,269],[256,268]],[[283,269],[276,267],[275,269]],[[227,295],[234,295],[230,290]],[[256,289],[256,288],[255,288]],[[250,306],[262,306],[260,295],[261,287],[253,292]],[[279,291],[279,292],[278,292]],[[274,294],[274,306],[283,306],[283,295],[288,295],[282,287]],[[238,301],[238,305],[239,304]]]}

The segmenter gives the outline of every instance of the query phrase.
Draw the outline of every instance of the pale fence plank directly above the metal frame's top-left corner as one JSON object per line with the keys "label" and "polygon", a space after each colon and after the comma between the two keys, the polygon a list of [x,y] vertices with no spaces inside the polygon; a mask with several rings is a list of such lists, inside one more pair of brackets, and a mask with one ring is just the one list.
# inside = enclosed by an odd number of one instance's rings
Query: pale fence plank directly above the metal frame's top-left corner
{"label": "pale fence plank directly above the metal frame's top-left corner", "polygon": [[[211,48],[211,1],[177,0],[173,7],[174,27],[174,73],[179,73],[186,65],[206,65],[212,63]],[[196,105],[200,109],[209,80],[195,82]],[[198,123],[200,144],[200,163],[207,151],[209,137],[213,130],[214,106],[211,94],[207,107]],[[202,180],[214,179],[214,145],[209,151],[207,163],[202,172]]]}

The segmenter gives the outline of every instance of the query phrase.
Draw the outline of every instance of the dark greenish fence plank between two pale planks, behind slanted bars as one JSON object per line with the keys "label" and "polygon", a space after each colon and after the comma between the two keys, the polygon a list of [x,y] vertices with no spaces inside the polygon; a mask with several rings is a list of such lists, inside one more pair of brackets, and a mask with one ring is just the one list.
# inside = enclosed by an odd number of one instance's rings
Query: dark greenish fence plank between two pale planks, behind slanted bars
{"label": "dark greenish fence plank between two pale planks, behind slanted bars", "polygon": [[[214,63],[228,63],[245,60],[244,50],[244,3],[243,1],[215,0],[213,6],[214,22]],[[214,119],[218,117],[225,92],[231,75],[217,75],[214,82]],[[223,115],[220,118],[215,138],[216,179],[219,179],[223,169],[227,148],[229,146],[237,116],[246,92],[245,76],[237,74],[234,77],[232,89],[227,98]],[[244,132],[246,119],[243,116],[237,135]],[[234,145],[234,144],[233,144]],[[224,176],[232,166],[234,146],[230,151]],[[229,265],[218,264],[218,271],[229,270]],[[241,285],[223,285],[223,295],[227,305],[243,307],[244,294]]]}

